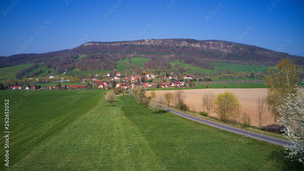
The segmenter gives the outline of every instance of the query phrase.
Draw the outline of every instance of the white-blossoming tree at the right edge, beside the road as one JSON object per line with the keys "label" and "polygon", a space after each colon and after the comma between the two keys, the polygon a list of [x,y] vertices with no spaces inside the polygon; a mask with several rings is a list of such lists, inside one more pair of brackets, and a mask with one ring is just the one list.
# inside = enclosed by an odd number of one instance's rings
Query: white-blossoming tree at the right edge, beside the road
{"label": "white-blossoming tree at the right edge, beside the road", "polygon": [[304,164],[304,89],[298,88],[297,94],[289,94],[277,111],[280,113],[277,122],[284,126],[283,135],[294,144],[286,147],[290,150],[287,157]]}

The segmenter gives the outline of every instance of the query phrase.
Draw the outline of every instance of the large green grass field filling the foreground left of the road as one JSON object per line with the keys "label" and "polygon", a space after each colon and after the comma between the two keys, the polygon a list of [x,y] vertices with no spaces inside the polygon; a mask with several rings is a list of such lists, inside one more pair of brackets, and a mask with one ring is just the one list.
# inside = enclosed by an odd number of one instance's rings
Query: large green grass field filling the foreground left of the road
{"label": "large green grass field filling the foreground left of the road", "polygon": [[[0,91],[0,99],[10,99],[12,107],[23,92]],[[118,96],[109,106],[102,96],[104,90],[86,90],[79,98],[80,92],[30,94],[10,114],[10,167],[4,166],[2,147],[0,169],[303,169],[302,164],[284,158],[284,147],[172,113],[153,112],[129,96]],[[69,106],[73,97],[79,99]],[[50,98],[60,100],[50,103]]]}

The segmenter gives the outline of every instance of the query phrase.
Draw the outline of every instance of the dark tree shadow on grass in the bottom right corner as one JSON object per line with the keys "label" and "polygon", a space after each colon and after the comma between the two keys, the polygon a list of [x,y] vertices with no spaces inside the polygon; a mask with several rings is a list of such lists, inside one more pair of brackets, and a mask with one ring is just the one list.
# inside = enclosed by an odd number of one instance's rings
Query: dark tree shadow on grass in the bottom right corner
{"label": "dark tree shadow on grass in the bottom right corner", "polygon": [[286,150],[281,149],[278,151],[273,151],[269,158],[270,161],[274,163],[274,166],[278,168],[278,170],[304,170],[304,165],[301,162],[290,161],[289,158],[285,158],[287,153]]}

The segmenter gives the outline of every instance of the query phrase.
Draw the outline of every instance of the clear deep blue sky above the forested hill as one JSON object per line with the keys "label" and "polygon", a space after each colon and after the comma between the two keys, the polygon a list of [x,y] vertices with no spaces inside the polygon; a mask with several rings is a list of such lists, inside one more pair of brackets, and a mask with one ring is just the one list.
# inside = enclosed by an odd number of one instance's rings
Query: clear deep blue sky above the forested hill
{"label": "clear deep blue sky above the forested hill", "polygon": [[[0,2],[0,56],[17,54],[16,49],[44,53],[74,48],[75,42],[157,36],[227,40],[271,50],[282,47],[282,52],[304,56],[304,2],[300,0],[19,1]],[[206,18],[209,11],[213,14]],[[245,37],[239,37],[242,34]]]}

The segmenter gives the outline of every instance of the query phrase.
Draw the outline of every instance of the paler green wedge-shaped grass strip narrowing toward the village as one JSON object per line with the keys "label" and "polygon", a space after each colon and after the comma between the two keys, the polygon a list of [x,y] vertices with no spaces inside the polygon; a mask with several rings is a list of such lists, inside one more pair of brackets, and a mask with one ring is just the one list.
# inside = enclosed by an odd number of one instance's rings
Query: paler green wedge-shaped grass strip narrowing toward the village
{"label": "paler green wedge-shaped grass strip narrowing toward the village", "polygon": [[27,157],[10,168],[159,169],[152,150],[138,128],[124,116],[121,110],[123,102],[121,98],[118,99],[115,106],[109,106],[102,97],[98,105],[68,124],[60,134],[37,146]]}

